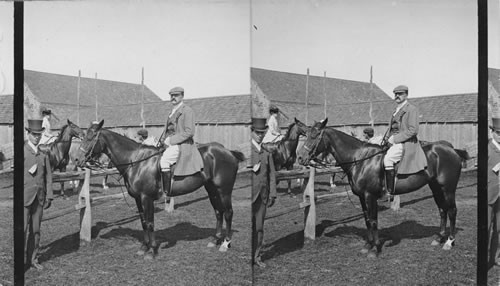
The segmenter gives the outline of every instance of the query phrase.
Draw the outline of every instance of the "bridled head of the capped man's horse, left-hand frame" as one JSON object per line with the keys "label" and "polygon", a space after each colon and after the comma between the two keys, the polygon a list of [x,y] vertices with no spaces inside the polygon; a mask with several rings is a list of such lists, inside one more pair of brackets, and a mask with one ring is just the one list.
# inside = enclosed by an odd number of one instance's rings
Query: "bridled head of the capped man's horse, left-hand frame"
{"label": "bridled head of the capped man's horse, left-hand frame", "polygon": [[99,140],[104,119],[99,123],[92,123],[87,129],[87,134],[82,139],[80,149],[76,152],[75,162],[78,167],[83,167],[90,159],[100,156],[103,152],[102,144]]}

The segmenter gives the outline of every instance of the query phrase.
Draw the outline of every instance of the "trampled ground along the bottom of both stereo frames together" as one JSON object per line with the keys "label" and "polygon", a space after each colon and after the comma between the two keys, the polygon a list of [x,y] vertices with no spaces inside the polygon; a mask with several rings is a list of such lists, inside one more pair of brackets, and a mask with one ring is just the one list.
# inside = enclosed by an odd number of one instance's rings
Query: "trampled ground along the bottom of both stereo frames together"
{"label": "trampled ground along the bottom of both stereo frames together", "polygon": [[[337,177],[335,193],[317,205],[317,238],[304,244],[299,188],[293,198],[280,183],[276,204],[265,222],[264,269],[250,267],[250,178],[237,179],[233,193],[233,244],[227,253],[207,248],[215,218],[201,189],[176,198],[174,214],[158,202],[155,229],[161,242],[154,261],[135,255],[142,230],[134,201],[104,202],[93,208],[92,242],[79,244],[77,212],[44,221],[40,262],[45,270],[26,272],[27,285],[475,285],[476,172],[462,174],[457,190],[455,247],[431,246],[439,214],[425,187],[401,196],[401,209],[379,203],[382,253],[368,259],[360,253],[366,227],[357,197]],[[93,180],[92,196],[125,191],[116,178],[104,191]],[[57,186],[56,186],[57,188]],[[317,178],[317,194],[331,192],[326,177]],[[45,215],[76,203],[57,197]],[[58,195],[58,192],[56,192]],[[0,176],[0,284],[12,285],[12,176]],[[499,285],[500,271],[490,271],[489,285]]]}

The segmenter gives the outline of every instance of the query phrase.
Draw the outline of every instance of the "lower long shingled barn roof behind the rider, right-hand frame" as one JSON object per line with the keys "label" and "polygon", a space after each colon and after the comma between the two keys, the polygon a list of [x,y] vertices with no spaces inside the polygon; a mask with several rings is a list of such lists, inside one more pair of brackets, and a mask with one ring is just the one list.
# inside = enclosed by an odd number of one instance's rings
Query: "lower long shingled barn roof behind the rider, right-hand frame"
{"label": "lower long shingled barn roof behind the rider, right-hand frame", "polygon": [[[453,94],[429,97],[410,98],[409,102],[418,107],[420,122],[459,123],[477,122],[477,94]],[[293,117],[305,122],[306,111],[302,103],[275,102],[280,110],[289,118]],[[392,100],[374,101],[372,115],[374,124],[388,124],[396,104]],[[328,125],[366,125],[370,123],[370,103],[337,104],[327,106]],[[313,104],[309,106],[309,121],[324,119],[324,106]],[[286,126],[283,122],[282,126]]]}

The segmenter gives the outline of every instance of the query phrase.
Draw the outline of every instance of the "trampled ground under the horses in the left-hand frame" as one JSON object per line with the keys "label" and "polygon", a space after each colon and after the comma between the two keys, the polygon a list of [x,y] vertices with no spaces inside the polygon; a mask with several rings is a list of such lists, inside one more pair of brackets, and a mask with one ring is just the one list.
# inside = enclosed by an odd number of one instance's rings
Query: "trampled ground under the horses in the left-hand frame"
{"label": "trampled ground under the horses in the left-hand frame", "polygon": [[[91,196],[126,192],[116,178],[110,178],[112,187],[106,191],[99,184],[102,179],[92,180]],[[11,179],[0,179],[0,285],[12,285],[13,280]],[[44,215],[76,204],[77,195],[69,194],[68,200],[56,197]],[[155,260],[144,261],[136,255],[143,234],[135,202],[126,193],[125,197],[92,208],[91,243],[79,244],[78,212],[44,221],[39,261],[45,269],[29,269],[26,285],[251,284],[248,175],[238,177],[233,192],[233,238],[226,253],[207,248],[215,233],[215,215],[201,188],[177,197],[173,214],[157,202],[155,230],[160,252]]]}

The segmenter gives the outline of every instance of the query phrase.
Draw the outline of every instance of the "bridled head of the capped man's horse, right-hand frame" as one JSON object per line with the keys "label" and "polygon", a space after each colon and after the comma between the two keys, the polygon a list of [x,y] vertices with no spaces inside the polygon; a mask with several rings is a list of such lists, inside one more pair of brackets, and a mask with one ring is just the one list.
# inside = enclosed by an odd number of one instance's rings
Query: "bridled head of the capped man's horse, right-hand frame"
{"label": "bridled head of the capped man's horse, right-hand frame", "polygon": [[323,153],[324,144],[320,144],[323,140],[323,131],[328,123],[328,118],[322,122],[315,122],[311,128],[308,128],[307,139],[304,145],[297,152],[297,160],[301,165],[309,164],[309,161],[315,158],[318,154]]}

